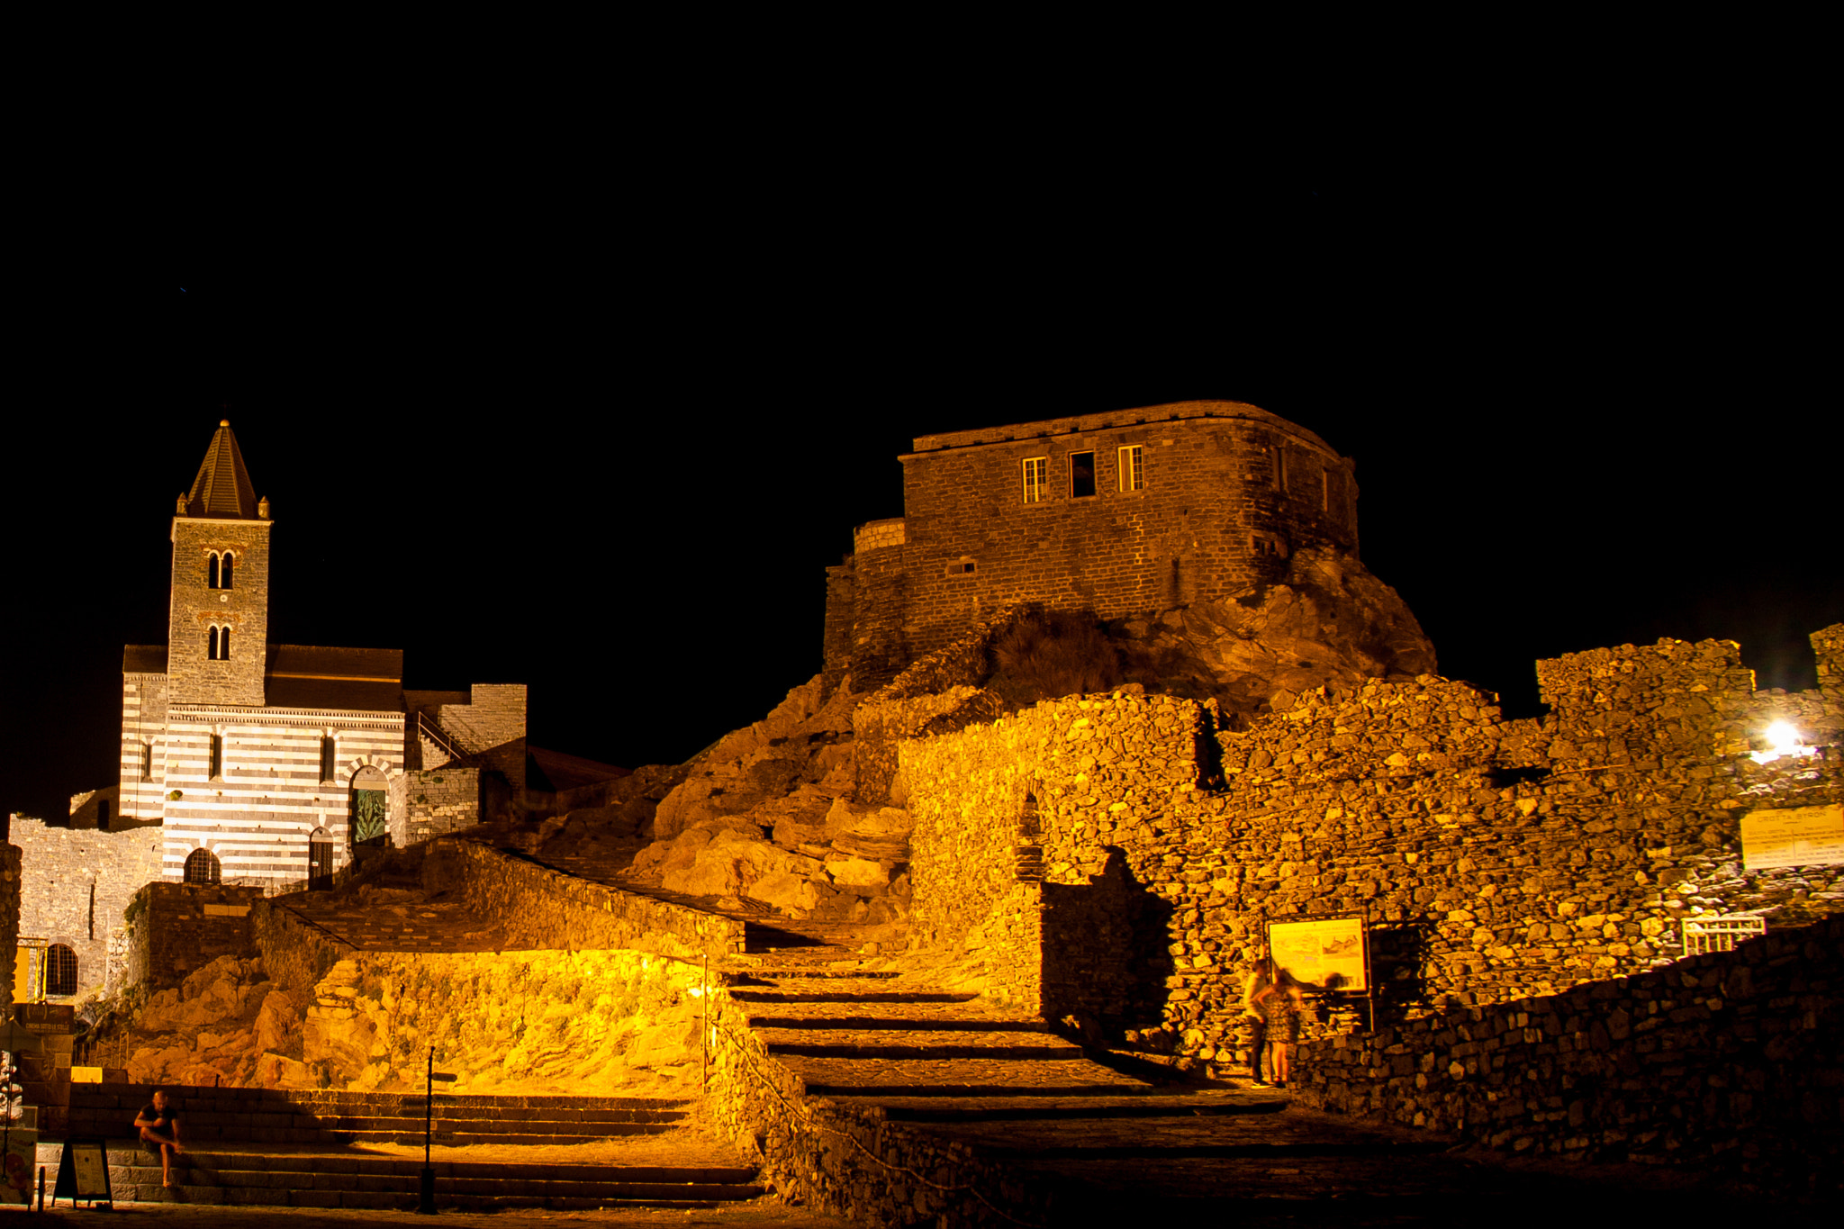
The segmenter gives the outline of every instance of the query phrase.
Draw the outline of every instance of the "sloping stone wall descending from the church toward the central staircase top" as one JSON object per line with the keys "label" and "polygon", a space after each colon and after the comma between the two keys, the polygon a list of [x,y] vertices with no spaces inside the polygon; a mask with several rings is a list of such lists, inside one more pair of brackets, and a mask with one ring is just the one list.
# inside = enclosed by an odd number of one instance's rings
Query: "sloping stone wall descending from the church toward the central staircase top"
{"label": "sloping stone wall descending from the church toward the central staircase top", "polygon": [[502,921],[507,947],[625,947],[679,958],[743,951],[741,921],[590,883],[476,840],[431,842],[424,883],[457,890],[483,918]]}

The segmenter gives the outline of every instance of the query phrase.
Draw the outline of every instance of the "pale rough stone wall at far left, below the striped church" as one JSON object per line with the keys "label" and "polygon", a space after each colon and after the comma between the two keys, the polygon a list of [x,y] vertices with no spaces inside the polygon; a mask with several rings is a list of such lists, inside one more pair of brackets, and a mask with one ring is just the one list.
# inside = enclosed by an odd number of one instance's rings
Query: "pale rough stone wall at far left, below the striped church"
{"label": "pale rough stone wall at far left, below the striped church", "polygon": [[159,827],[48,827],[13,820],[22,853],[18,932],[65,943],[77,956],[77,995],[107,984],[109,938],[142,884],[160,877]]}

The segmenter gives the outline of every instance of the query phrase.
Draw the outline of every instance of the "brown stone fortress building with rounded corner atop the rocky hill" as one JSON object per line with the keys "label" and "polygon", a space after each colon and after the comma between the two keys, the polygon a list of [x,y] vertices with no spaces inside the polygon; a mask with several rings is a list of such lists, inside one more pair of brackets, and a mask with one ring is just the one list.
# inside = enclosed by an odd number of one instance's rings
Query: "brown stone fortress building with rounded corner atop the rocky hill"
{"label": "brown stone fortress building with rounded corner atop the rocky hill", "polygon": [[1300,547],[1357,556],[1355,464],[1243,402],[924,435],[900,461],[904,516],[828,569],[828,691],[1016,603],[1110,619],[1274,580]]}

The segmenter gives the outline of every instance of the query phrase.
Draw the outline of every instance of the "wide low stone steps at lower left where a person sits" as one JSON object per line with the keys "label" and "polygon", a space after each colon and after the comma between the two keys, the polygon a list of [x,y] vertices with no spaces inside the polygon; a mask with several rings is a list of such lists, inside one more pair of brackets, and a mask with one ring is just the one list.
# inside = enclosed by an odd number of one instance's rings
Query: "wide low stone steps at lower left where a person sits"
{"label": "wide low stone steps at lower left where a person sits", "polygon": [[[168,1089],[190,1144],[173,1188],[129,1124],[153,1089],[76,1085],[72,1135],[109,1139],[124,1201],[415,1209],[424,1100],[402,1093]],[[581,1163],[572,1146],[666,1135],[688,1102],[629,1096],[437,1096],[431,1142],[443,1209],[717,1207],[762,1194],[754,1166],[701,1153],[684,1165]],[[389,1146],[396,1146],[396,1155]],[[402,1155],[404,1150],[409,1155]],[[467,1159],[450,1150],[468,1148]],[[559,1153],[564,1148],[568,1152]],[[559,1159],[562,1155],[562,1159]]]}

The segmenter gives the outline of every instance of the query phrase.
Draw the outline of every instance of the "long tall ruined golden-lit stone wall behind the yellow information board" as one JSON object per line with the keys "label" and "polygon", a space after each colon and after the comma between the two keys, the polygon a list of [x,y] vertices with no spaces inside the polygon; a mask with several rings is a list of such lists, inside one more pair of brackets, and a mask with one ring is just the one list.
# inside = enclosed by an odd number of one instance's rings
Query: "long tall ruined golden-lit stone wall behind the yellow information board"
{"label": "long tall ruined golden-lit stone wall behind the yellow information board", "polygon": [[[1837,706],[1748,691],[1726,641],[1571,654],[1542,678],[1542,720],[1505,722],[1492,696],[1422,676],[1309,693],[1219,737],[1204,706],[1123,689],[904,743],[916,925],[955,943],[979,923],[1007,890],[1029,796],[1046,901],[1088,888],[1116,901],[1114,921],[1081,925],[1164,932],[1138,966],[1086,969],[1088,1006],[1127,1004],[1112,1026],[1164,1023],[1188,1054],[1232,1061],[1269,919],[1363,912],[1381,1010],[1416,1015],[1645,971],[1680,954],[1684,918],[1789,925],[1840,908],[1844,868],[1746,870],[1739,844],[1750,811],[1844,798],[1838,759],[1746,754],[1789,706],[1837,743]],[[1117,886],[1093,892],[1108,875]],[[1044,943],[1075,947],[1049,914]],[[1149,1017],[1132,1004],[1160,960]],[[1046,1010],[1060,1010],[1049,989]],[[1353,1024],[1341,1008],[1309,1034]]]}

